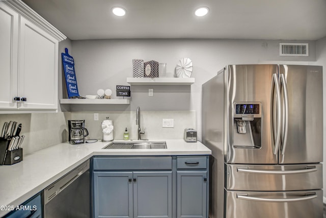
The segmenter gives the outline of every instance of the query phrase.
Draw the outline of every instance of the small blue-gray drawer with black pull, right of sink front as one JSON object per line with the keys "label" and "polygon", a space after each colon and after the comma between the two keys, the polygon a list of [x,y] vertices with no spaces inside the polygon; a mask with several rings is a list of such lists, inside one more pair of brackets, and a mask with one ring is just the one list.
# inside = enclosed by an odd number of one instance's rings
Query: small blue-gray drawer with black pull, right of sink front
{"label": "small blue-gray drawer with black pull, right of sink front", "polygon": [[206,157],[177,157],[177,169],[206,169]]}

